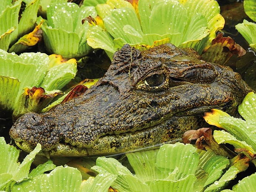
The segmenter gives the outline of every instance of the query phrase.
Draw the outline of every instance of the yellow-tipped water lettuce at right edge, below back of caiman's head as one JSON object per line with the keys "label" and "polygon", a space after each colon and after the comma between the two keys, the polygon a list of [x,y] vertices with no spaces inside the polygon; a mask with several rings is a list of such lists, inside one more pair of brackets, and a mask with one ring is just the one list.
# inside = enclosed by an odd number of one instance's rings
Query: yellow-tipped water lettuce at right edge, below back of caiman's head
{"label": "yellow-tipped water lettuce at right edge, below back of caiman's head", "polygon": [[238,106],[238,112],[244,120],[230,116],[221,110],[213,109],[206,113],[204,119],[211,125],[224,130],[214,131],[214,139],[218,144],[228,143],[235,151],[242,152],[256,165],[256,95],[246,95]]}

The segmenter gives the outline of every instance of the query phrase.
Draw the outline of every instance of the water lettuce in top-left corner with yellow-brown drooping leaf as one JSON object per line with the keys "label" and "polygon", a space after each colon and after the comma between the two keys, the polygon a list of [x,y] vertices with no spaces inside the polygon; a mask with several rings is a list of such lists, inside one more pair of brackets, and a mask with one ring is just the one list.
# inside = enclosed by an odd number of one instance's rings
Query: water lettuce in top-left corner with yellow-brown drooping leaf
{"label": "water lettuce in top-left corner with yellow-brown drooping leaf", "polygon": [[[23,4],[25,3],[25,7]],[[40,0],[4,0],[0,6],[0,49],[21,52],[40,38],[34,29]]]}

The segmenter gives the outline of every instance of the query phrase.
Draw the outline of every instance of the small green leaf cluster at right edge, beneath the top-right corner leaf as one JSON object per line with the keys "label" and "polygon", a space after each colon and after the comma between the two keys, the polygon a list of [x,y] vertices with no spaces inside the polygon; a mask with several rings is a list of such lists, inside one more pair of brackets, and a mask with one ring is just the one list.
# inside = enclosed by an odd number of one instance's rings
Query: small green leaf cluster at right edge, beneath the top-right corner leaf
{"label": "small green leaf cluster at right edge, beneath the top-right corner leaf", "polygon": [[256,24],[243,20],[243,23],[239,23],[235,27],[249,43],[250,47],[256,51]]}

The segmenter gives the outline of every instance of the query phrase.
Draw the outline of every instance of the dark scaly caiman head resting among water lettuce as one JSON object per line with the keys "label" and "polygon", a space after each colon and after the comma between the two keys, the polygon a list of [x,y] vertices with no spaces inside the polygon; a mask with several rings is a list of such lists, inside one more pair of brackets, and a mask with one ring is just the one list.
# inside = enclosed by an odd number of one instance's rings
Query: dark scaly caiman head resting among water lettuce
{"label": "dark scaly caiman head resting among water lettuce", "polygon": [[252,89],[227,66],[172,44],[139,51],[124,45],[90,89],[11,127],[18,147],[46,156],[117,154],[175,141],[204,126],[211,109],[236,113]]}

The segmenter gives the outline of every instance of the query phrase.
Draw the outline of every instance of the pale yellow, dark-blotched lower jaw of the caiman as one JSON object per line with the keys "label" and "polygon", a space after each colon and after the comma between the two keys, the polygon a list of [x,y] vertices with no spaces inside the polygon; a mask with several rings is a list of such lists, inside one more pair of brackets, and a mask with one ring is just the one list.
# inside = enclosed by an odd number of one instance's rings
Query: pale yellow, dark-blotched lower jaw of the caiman
{"label": "pale yellow, dark-blotched lower jaw of the caiman", "polygon": [[[211,107],[208,106],[208,108],[219,109],[219,108],[225,107],[226,104],[227,103],[222,103],[218,106],[211,106]],[[195,114],[196,113],[200,114],[202,113],[202,109],[205,107],[206,106],[191,109],[191,112]],[[232,107],[229,106],[229,109],[232,109]],[[205,109],[203,111],[205,111]],[[173,116],[173,119],[176,122],[178,119],[184,120],[184,118],[187,119],[187,121],[193,121],[195,120],[195,117],[191,114],[191,112],[186,117]],[[168,123],[170,124],[170,122]],[[155,126],[140,129],[133,132],[129,131],[127,133],[122,133],[122,134],[112,134],[112,135],[110,134],[110,135],[102,136],[99,138],[96,144],[93,145],[93,147],[91,148],[77,147],[69,143],[62,143],[62,141],[59,140],[59,143],[57,144],[56,147],[51,148],[50,150],[40,151],[38,154],[45,156],[47,158],[54,157],[54,156],[81,157],[81,156],[92,156],[92,155],[109,155],[109,154],[119,154],[124,152],[143,150],[144,148],[148,148],[149,144],[151,147],[154,147],[164,143],[174,143],[177,141],[181,141],[183,131],[180,132],[180,134],[177,134],[177,132],[174,134],[172,133],[173,129],[168,128],[167,125],[164,125],[164,124],[165,123],[160,122]],[[175,128],[178,129],[179,126],[180,125],[176,125]],[[191,124],[191,126],[187,127],[187,130],[193,129],[194,126],[196,125]],[[159,131],[159,130],[162,130],[162,131]],[[26,152],[33,151],[35,146],[25,141],[18,141],[18,140],[19,139],[16,138],[15,143],[19,148],[23,149]],[[126,151],[126,148],[128,147],[130,148],[130,151]]]}

